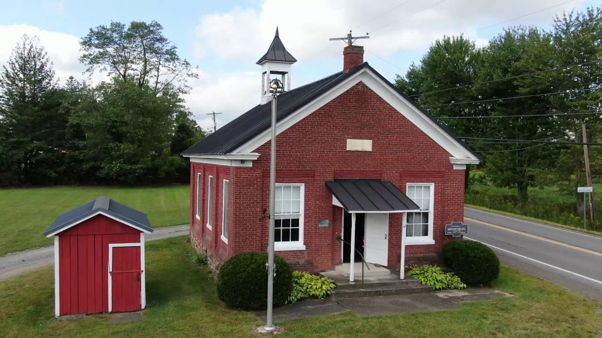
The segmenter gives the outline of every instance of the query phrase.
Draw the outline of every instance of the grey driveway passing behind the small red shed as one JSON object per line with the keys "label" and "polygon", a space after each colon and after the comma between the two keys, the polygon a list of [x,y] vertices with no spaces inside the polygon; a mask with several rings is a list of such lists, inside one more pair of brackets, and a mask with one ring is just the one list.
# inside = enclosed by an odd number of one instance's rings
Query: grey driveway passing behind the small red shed
{"label": "grey driveway passing behind the small red shed", "polygon": [[[189,233],[188,224],[157,228],[150,235],[146,235],[146,240],[185,236]],[[53,264],[54,248],[52,246],[7,254],[0,257],[0,281]]]}

